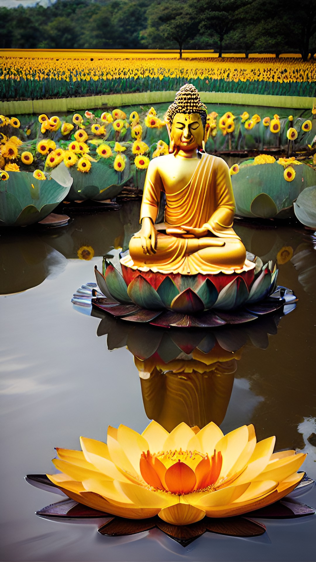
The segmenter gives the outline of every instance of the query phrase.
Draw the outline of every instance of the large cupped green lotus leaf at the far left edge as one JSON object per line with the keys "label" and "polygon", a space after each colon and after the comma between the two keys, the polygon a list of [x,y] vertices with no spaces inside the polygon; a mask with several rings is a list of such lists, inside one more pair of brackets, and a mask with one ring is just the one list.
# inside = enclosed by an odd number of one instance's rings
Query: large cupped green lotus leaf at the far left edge
{"label": "large cupped green lotus leaf at the far left edge", "polygon": [[[54,179],[38,180],[31,172],[10,172],[9,178],[1,183],[1,193],[6,192],[6,200],[10,200],[10,203],[1,206],[1,220],[6,225],[16,226],[36,223],[49,215],[65,198],[68,191],[69,187],[60,185]],[[15,203],[13,205],[10,194],[15,197],[19,205]],[[3,199],[4,195],[1,197]],[[26,207],[30,209],[23,213]],[[6,216],[6,209],[8,216]]]}

